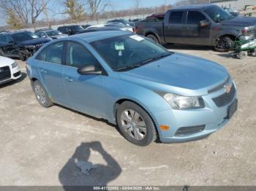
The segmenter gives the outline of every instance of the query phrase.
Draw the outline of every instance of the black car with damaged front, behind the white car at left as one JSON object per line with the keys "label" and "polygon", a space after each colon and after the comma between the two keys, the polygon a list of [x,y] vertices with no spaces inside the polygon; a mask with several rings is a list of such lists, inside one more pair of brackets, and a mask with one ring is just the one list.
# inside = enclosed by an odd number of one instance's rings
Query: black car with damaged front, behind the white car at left
{"label": "black car with damaged front, behind the white car at left", "polygon": [[2,31],[0,55],[26,61],[39,47],[49,41],[50,39],[39,38],[30,31]]}

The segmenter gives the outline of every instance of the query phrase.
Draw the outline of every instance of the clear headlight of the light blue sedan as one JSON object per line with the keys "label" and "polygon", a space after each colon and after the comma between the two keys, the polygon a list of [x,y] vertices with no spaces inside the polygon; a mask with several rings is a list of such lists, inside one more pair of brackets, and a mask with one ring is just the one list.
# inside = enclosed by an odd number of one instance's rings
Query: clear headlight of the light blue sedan
{"label": "clear headlight of the light blue sedan", "polygon": [[165,93],[163,98],[173,109],[197,109],[205,107],[202,97],[185,97],[173,93]]}

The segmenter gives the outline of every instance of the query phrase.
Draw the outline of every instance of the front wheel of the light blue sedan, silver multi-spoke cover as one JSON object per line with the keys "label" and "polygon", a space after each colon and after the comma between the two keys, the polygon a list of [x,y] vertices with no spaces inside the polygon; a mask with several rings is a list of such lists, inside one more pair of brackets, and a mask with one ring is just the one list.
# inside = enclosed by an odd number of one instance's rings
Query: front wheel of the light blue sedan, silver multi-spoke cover
{"label": "front wheel of the light blue sedan, silver multi-spoke cover", "polygon": [[131,101],[124,101],[118,106],[116,121],[121,134],[132,144],[146,147],[157,140],[157,130],[151,117]]}

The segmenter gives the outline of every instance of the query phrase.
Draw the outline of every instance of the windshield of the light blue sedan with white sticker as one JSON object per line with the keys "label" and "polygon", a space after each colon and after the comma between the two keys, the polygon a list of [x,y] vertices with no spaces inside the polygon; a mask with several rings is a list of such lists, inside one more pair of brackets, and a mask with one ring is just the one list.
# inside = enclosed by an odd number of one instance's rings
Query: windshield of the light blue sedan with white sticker
{"label": "windshield of the light blue sedan with white sticker", "polygon": [[127,71],[170,55],[165,48],[134,34],[91,42],[91,46],[114,71]]}

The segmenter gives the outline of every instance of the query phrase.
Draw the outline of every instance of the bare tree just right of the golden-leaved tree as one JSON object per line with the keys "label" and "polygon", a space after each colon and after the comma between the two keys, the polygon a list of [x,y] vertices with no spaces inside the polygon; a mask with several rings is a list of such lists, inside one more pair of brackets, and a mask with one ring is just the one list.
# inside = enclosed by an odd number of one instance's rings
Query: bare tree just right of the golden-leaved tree
{"label": "bare tree just right of the golden-leaved tree", "polygon": [[98,15],[101,12],[104,12],[105,9],[110,6],[110,3],[106,0],[87,0],[89,9],[92,15],[93,20],[98,19]]}

